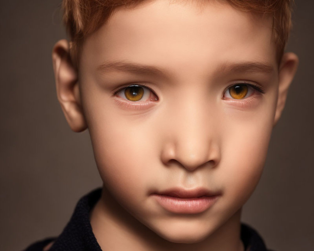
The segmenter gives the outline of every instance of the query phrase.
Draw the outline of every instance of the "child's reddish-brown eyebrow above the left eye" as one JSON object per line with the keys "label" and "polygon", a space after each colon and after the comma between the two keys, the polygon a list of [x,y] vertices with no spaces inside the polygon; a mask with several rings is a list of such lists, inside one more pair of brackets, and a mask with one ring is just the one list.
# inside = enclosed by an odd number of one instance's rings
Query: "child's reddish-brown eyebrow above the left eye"
{"label": "child's reddish-brown eyebrow above the left eye", "polygon": [[128,72],[133,74],[160,76],[165,75],[165,71],[159,67],[142,65],[128,61],[109,61],[97,67],[97,71],[106,72]]}

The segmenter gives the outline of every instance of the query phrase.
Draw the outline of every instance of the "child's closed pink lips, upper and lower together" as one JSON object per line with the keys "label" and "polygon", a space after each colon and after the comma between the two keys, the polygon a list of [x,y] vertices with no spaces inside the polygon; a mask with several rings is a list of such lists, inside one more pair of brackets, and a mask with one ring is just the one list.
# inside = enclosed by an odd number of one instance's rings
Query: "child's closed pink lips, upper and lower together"
{"label": "child's closed pink lips, upper and lower together", "polygon": [[214,205],[220,194],[205,189],[183,190],[171,189],[153,193],[157,202],[172,213],[197,214]]}

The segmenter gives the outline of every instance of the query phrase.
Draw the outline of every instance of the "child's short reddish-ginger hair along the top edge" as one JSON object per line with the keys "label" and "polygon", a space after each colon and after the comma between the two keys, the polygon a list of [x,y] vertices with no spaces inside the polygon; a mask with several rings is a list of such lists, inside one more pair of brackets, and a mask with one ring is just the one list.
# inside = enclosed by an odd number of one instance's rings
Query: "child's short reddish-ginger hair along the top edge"
{"label": "child's short reddish-ginger hair along the top edge", "polygon": [[[79,55],[84,38],[104,24],[113,11],[119,7],[132,8],[148,0],[63,0],[63,22],[70,35],[70,55],[73,65],[78,68]],[[204,4],[210,0],[190,0]],[[291,5],[293,0],[221,0],[236,9],[266,13],[273,18],[273,41],[277,50],[277,61],[284,53],[291,29]]]}

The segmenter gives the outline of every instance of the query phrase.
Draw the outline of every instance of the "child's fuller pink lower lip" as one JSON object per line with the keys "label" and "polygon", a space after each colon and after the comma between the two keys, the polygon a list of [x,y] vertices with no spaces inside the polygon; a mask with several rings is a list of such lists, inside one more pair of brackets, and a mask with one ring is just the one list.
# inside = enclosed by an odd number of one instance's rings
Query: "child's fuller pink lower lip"
{"label": "child's fuller pink lower lip", "polygon": [[152,195],[160,206],[172,213],[197,214],[206,211],[214,205],[219,195],[202,196],[196,198],[179,198],[168,195]]}

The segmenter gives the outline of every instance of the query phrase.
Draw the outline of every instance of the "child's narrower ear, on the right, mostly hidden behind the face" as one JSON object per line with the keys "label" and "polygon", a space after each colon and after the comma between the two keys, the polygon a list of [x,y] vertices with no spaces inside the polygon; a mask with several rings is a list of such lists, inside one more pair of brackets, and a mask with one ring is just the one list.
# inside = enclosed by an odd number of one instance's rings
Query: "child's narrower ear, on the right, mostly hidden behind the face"
{"label": "child's narrower ear, on the right, mostly hidden behind the face", "polygon": [[277,107],[273,125],[275,126],[282,114],[287,99],[288,89],[298,68],[299,59],[292,52],[285,53],[279,66],[279,90]]}

